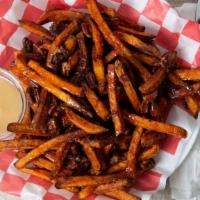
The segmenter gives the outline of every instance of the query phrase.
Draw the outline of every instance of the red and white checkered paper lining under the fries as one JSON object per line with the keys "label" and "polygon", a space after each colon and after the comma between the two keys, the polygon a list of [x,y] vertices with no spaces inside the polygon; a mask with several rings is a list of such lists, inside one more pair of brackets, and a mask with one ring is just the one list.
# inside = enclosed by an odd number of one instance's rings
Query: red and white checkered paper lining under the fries
{"label": "red and white checkered paper lining under the fries", "polygon": [[[200,25],[180,18],[176,11],[164,0],[100,0],[121,15],[146,27],[146,31],[157,35],[156,44],[161,52],[176,50],[178,61],[183,67],[200,66]],[[18,20],[36,21],[49,8],[81,9],[85,11],[85,0],[0,0],[0,66],[8,69],[15,49],[21,49],[22,39],[29,33],[19,27]],[[142,175],[134,192],[143,200],[165,187],[166,179],[181,164],[189,153],[199,132],[200,117],[194,120],[185,111],[173,107],[168,121],[183,126],[188,138],[180,140],[169,136],[161,145],[161,153],[156,158],[155,169]],[[0,153],[0,191],[19,196],[21,199],[75,200],[76,196],[67,191],[57,190],[48,181],[19,172],[13,166],[13,151]],[[89,200],[110,199],[91,196]]]}

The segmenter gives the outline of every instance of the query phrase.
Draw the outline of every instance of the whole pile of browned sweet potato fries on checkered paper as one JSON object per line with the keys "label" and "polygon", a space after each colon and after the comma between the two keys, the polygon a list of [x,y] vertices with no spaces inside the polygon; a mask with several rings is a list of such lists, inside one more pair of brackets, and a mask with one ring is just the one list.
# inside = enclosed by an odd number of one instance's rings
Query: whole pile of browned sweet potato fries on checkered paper
{"label": "whole pile of browned sweet potato fries on checkered paper", "polygon": [[[89,14],[50,10],[20,20],[37,41],[23,40],[11,72],[28,101],[16,133],[0,150],[18,150],[16,168],[78,193],[139,199],[127,193],[155,165],[159,142],[186,130],[165,122],[169,102],[199,112],[200,70],[161,55],[145,27],[95,0]],[[42,25],[51,22],[49,30]]]}

